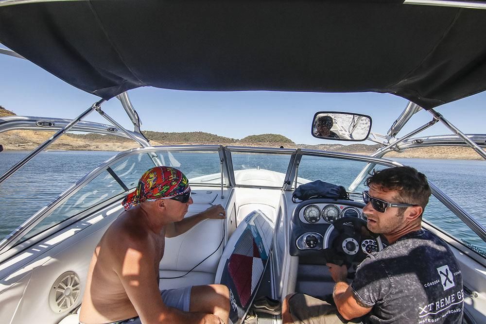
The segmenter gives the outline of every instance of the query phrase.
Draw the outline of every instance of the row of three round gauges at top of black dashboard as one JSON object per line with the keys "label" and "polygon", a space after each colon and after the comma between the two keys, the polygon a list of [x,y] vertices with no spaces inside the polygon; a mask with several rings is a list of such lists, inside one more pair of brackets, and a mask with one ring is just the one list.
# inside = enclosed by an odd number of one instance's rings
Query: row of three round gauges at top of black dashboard
{"label": "row of three round gauges at top of black dashboard", "polygon": [[311,204],[302,207],[299,211],[300,221],[307,224],[328,224],[342,217],[366,220],[361,208],[341,204]]}

